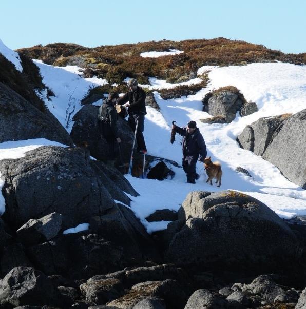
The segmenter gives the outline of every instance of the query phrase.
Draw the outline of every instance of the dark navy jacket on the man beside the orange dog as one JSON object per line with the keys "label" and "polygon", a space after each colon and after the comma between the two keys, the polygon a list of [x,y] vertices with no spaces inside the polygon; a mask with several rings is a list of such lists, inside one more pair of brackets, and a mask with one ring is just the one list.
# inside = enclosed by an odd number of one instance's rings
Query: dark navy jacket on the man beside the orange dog
{"label": "dark navy jacket on the man beside the orange dog", "polygon": [[199,128],[196,128],[193,134],[187,133],[187,127],[175,127],[177,133],[183,136],[182,150],[185,160],[196,162],[200,155],[200,160],[203,161],[207,155],[206,145]]}

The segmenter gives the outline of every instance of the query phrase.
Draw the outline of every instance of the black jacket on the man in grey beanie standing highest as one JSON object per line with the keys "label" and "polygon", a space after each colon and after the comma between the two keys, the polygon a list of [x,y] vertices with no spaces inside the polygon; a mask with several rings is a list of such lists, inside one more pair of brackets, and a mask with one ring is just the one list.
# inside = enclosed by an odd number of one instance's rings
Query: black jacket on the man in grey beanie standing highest
{"label": "black jacket on the man in grey beanie standing highest", "polygon": [[117,100],[118,105],[125,104],[129,101],[129,114],[146,114],[146,94],[140,87],[137,87],[135,91],[129,91],[124,96]]}

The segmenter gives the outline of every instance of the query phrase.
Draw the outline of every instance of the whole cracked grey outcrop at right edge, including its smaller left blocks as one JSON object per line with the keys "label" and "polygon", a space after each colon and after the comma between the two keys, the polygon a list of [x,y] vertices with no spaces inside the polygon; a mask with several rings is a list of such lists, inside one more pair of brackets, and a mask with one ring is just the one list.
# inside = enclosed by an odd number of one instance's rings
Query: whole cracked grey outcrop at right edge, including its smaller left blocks
{"label": "whole cracked grey outcrop at right edge, including its smaller left blocks", "polygon": [[306,189],[306,109],[294,115],[260,118],[247,126],[237,141],[274,164],[289,180]]}

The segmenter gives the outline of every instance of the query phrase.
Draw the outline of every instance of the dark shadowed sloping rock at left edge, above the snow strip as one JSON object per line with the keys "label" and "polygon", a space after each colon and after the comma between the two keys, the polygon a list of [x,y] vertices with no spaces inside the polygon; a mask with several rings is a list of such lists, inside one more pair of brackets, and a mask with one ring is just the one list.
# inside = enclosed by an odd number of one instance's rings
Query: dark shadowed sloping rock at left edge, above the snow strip
{"label": "dark shadowed sloping rock at left edge, above the snow strip", "polygon": [[0,83],[0,142],[31,138],[46,138],[73,145],[69,134],[49,111],[41,112]]}

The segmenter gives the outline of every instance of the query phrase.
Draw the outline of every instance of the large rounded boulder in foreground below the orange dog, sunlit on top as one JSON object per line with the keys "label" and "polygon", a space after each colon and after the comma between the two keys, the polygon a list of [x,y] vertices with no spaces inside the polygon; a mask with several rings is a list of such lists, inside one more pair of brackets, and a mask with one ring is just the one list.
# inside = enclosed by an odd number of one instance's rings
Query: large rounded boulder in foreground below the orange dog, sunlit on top
{"label": "large rounded boulder in foreground below the orange dog, sunlit on top", "polygon": [[167,260],[179,265],[277,267],[301,254],[288,225],[265,204],[243,193],[189,193],[179,219],[186,222],[166,252]]}

